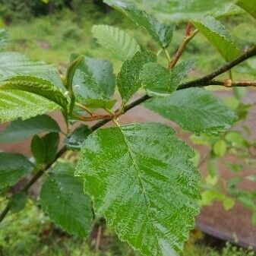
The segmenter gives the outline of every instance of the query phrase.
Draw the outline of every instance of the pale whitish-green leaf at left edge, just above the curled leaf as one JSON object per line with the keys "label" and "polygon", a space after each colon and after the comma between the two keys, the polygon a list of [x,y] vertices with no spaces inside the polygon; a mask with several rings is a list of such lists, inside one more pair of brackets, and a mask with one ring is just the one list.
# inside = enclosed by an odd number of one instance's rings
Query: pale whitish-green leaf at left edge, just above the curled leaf
{"label": "pale whitish-green leaf at left edge, just above the curled leaf", "polygon": [[26,56],[17,52],[0,52],[0,81],[21,74],[42,74],[53,70],[45,62],[33,62]]}

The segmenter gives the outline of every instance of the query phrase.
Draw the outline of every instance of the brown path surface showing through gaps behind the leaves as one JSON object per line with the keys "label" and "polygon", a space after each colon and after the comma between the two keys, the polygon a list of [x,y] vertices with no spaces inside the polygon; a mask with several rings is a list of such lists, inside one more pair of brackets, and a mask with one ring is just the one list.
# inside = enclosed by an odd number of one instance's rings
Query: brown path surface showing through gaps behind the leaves
{"label": "brown path surface showing through gaps behind the leaves", "polygon": [[[227,92],[217,93],[220,96],[228,96]],[[256,91],[251,91],[248,93],[246,98],[247,103],[256,103]],[[59,115],[53,114],[60,123],[62,123],[62,118]],[[166,125],[172,125],[179,133],[179,127],[172,122],[162,119],[159,115],[154,114],[153,112],[144,109],[141,106],[138,106],[132,109],[130,112],[126,113],[120,118],[122,124],[131,123],[131,122],[163,122]],[[250,126],[252,134],[251,138],[256,139],[256,107],[251,110],[247,124]],[[111,124],[109,124],[111,125]],[[4,128],[0,126],[0,131]],[[238,127],[239,128],[239,127]],[[179,134],[180,137],[188,141],[188,135]],[[189,143],[189,141],[188,141]],[[30,141],[22,141],[15,145],[0,145],[0,150],[6,151],[15,151],[29,155],[29,144]],[[201,152],[202,158],[207,155],[208,149],[206,147],[197,147]],[[235,161],[234,158],[227,156],[229,161]],[[226,178],[232,177],[232,174],[226,169],[223,164],[220,163],[220,172],[223,173],[223,176]],[[204,175],[206,172],[206,163],[201,165],[201,173]],[[253,166],[251,169],[247,169],[243,172],[243,175],[248,175],[248,173],[256,172],[256,167]],[[242,184],[245,188],[256,189],[256,183],[245,182]],[[252,187],[254,186],[254,187]],[[240,204],[235,204],[235,207],[226,212],[223,210],[223,207],[216,203],[211,207],[204,207],[201,211],[201,214],[197,219],[198,227],[209,233],[210,235],[215,235],[220,239],[225,239],[230,242],[234,242],[238,239],[239,244],[242,246],[252,245],[256,249],[256,226],[251,226],[251,213],[248,210],[245,210]]]}

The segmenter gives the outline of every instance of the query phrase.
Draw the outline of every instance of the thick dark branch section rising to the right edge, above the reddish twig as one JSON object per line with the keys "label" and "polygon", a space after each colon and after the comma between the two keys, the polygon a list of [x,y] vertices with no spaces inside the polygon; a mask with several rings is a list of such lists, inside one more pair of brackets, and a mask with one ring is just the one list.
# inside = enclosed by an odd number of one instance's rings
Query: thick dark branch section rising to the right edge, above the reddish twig
{"label": "thick dark branch section rising to the right edge, above the reddish twig", "polygon": [[239,56],[238,58],[235,58],[232,60],[232,62],[228,62],[222,67],[216,69],[216,71],[213,71],[210,74],[205,75],[204,77],[201,77],[194,81],[189,81],[187,83],[181,84],[179,86],[179,89],[185,89],[189,87],[204,87],[209,81],[212,81],[213,78],[219,76],[220,74],[225,73],[226,71],[229,71],[231,68],[234,68],[236,65],[239,65],[242,62],[245,62],[248,58],[251,58],[256,55],[256,46],[253,46],[251,49],[249,49],[247,52]]}

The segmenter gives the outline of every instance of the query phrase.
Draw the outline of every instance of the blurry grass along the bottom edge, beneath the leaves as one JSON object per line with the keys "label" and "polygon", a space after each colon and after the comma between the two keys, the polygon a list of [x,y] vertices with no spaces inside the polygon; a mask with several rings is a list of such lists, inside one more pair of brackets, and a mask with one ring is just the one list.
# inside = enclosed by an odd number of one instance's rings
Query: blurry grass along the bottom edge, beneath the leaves
{"label": "blurry grass along the bottom edge, beneath the leaves", "polygon": [[[94,232],[95,233],[95,232]],[[95,239],[79,239],[62,232],[32,201],[19,213],[10,214],[0,229],[0,256],[140,256],[120,242],[109,229],[104,229],[100,251]],[[199,235],[198,235],[199,234]],[[96,235],[91,235],[93,238]],[[182,256],[254,256],[254,252],[227,244],[214,249],[195,242],[201,237],[194,232]]]}

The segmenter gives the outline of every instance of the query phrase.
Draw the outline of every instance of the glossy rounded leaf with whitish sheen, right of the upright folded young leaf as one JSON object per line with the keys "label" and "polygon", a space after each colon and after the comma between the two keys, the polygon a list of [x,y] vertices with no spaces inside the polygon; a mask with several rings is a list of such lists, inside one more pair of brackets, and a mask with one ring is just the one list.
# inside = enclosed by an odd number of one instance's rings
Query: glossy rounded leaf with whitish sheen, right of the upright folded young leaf
{"label": "glossy rounded leaf with whitish sheen, right of the upright folded young leaf", "polygon": [[[85,57],[77,67],[73,80],[74,92],[86,106],[109,102],[115,92],[115,75],[112,63],[96,58]],[[99,100],[98,105],[96,104]]]}

